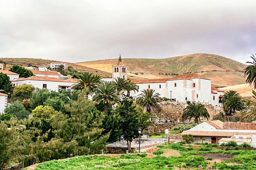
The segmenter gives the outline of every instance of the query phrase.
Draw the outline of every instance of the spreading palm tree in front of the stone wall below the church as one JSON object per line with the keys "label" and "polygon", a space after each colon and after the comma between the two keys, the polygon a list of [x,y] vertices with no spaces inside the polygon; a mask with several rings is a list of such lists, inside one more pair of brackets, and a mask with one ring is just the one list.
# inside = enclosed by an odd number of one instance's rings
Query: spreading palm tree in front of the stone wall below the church
{"label": "spreading palm tree in front of the stone wall below the church", "polygon": [[183,110],[182,121],[186,120],[188,117],[189,120],[191,120],[191,118],[195,118],[195,123],[198,123],[198,119],[200,121],[200,117],[208,120],[210,115],[204,105],[193,101]]}

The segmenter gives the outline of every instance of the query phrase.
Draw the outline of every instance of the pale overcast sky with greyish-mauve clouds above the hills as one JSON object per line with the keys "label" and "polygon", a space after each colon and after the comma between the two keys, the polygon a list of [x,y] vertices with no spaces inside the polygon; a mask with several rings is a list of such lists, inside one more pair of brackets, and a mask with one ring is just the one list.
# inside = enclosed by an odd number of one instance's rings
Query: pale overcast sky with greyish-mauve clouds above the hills
{"label": "pale overcast sky with greyish-mauve clouds above the hills", "polygon": [[0,0],[0,58],[83,62],[256,52],[256,1]]}

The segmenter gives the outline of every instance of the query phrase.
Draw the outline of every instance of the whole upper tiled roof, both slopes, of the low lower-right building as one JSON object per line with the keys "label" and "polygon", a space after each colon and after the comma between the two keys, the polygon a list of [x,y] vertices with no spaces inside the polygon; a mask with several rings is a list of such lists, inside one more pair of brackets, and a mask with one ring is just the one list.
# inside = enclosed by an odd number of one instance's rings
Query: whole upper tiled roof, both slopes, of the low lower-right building
{"label": "whole upper tiled roof, both slopes, of the low lower-right building", "polygon": [[239,129],[239,130],[256,130],[256,123],[243,122],[222,122],[220,120],[211,120],[206,123],[216,129]]}

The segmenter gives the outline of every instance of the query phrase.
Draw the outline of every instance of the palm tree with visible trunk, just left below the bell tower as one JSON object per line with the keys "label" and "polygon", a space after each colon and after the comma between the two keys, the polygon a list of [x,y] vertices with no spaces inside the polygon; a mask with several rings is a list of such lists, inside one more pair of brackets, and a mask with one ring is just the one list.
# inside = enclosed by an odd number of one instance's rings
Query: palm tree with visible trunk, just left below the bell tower
{"label": "palm tree with visible trunk, just left below the bell tower", "polygon": [[104,112],[108,115],[108,104],[115,104],[120,101],[119,96],[116,94],[116,87],[109,81],[98,85],[98,88],[95,90],[95,95],[93,96],[93,101],[96,101],[98,104],[103,102]]}

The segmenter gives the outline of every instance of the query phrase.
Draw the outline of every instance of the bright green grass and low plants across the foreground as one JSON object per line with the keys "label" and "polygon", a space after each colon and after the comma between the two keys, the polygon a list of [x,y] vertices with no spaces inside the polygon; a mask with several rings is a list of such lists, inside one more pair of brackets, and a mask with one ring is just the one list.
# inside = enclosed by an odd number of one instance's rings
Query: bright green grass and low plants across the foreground
{"label": "bright green grass and low plants across the foreground", "polygon": [[[248,150],[232,150],[223,151],[221,149],[214,149],[214,145],[207,145],[202,148],[202,151],[193,149],[192,145],[185,145],[182,143],[170,143],[157,146],[158,151],[154,152],[158,156],[153,158],[146,157],[147,153],[137,154],[122,154],[120,157],[110,156],[80,156],[63,161],[52,160],[39,164],[35,170],[58,170],[58,169],[125,169],[125,170],[152,170],[152,169],[177,169],[179,165],[187,167],[187,169],[199,169],[198,165],[206,167],[211,157],[204,158],[202,156],[195,156],[196,154],[204,153],[223,153],[234,155],[234,158],[223,162],[213,163],[212,169],[256,169],[256,151]],[[161,156],[164,151],[171,149],[180,152],[181,156]],[[207,150],[207,151],[204,151]],[[227,163],[240,162],[241,165],[228,165]],[[205,169],[205,168],[204,168]]]}

